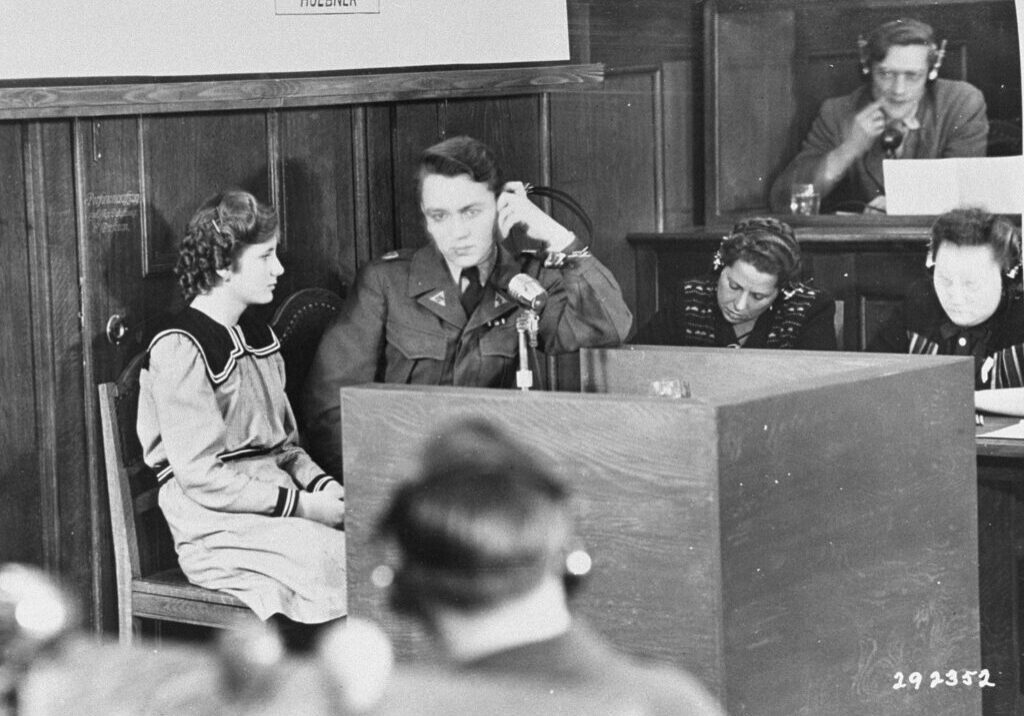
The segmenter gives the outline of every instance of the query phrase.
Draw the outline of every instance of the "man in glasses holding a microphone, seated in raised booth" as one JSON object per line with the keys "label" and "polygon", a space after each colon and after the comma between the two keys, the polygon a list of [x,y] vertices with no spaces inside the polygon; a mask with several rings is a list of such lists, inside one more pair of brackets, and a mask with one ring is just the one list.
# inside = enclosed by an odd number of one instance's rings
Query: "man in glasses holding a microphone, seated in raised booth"
{"label": "man in glasses holding a microphone, seated in raised booth", "polygon": [[886,23],[858,41],[865,83],[826,99],[800,153],[775,180],[773,211],[787,211],[794,182],[813,183],[825,207],[885,211],[882,160],[984,157],[985,98],[939,79],[945,41],[915,19]]}

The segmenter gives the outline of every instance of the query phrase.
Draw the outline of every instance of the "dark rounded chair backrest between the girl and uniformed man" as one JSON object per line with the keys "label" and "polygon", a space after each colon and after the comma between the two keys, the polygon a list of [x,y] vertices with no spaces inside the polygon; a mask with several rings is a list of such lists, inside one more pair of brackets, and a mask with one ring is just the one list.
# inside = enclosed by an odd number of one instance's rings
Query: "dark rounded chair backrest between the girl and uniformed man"
{"label": "dark rounded chair backrest between the girl and uniformed man", "polygon": [[302,385],[324,329],[341,310],[342,302],[341,296],[328,289],[301,289],[286,298],[270,320],[273,332],[281,339],[281,354],[285,359],[285,392],[300,420],[302,411],[298,399]]}

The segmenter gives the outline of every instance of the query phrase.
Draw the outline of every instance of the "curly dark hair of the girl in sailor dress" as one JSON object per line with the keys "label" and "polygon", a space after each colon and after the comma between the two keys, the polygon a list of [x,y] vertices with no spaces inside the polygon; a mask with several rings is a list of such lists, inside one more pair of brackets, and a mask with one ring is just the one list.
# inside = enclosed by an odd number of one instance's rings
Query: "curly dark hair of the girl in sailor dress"
{"label": "curly dark hair of the girl in sailor dress", "polygon": [[278,212],[243,189],[207,199],[185,227],[174,273],[185,300],[220,282],[218,270],[232,268],[242,250],[278,235]]}

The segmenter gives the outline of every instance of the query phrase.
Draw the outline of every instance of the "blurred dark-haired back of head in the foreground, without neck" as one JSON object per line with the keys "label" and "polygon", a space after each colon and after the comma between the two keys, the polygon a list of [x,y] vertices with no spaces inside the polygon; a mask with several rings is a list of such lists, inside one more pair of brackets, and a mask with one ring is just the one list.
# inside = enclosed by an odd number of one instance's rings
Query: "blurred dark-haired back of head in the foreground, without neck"
{"label": "blurred dark-haired back of head in the foreground, without neck", "polygon": [[417,478],[392,496],[379,530],[399,552],[392,606],[432,626],[439,613],[479,614],[541,589],[564,602],[589,568],[571,550],[566,489],[480,419],[426,446]]}

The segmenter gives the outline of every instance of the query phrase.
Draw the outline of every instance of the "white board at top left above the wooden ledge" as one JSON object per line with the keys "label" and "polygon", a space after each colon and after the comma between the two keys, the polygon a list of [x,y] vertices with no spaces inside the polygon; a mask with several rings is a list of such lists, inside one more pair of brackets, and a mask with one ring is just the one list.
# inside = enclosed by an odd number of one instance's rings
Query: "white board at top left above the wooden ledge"
{"label": "white board at top left above the wooden ledge", "polygon": [[5,0],[0,83],[564,61],[565,0]]}

